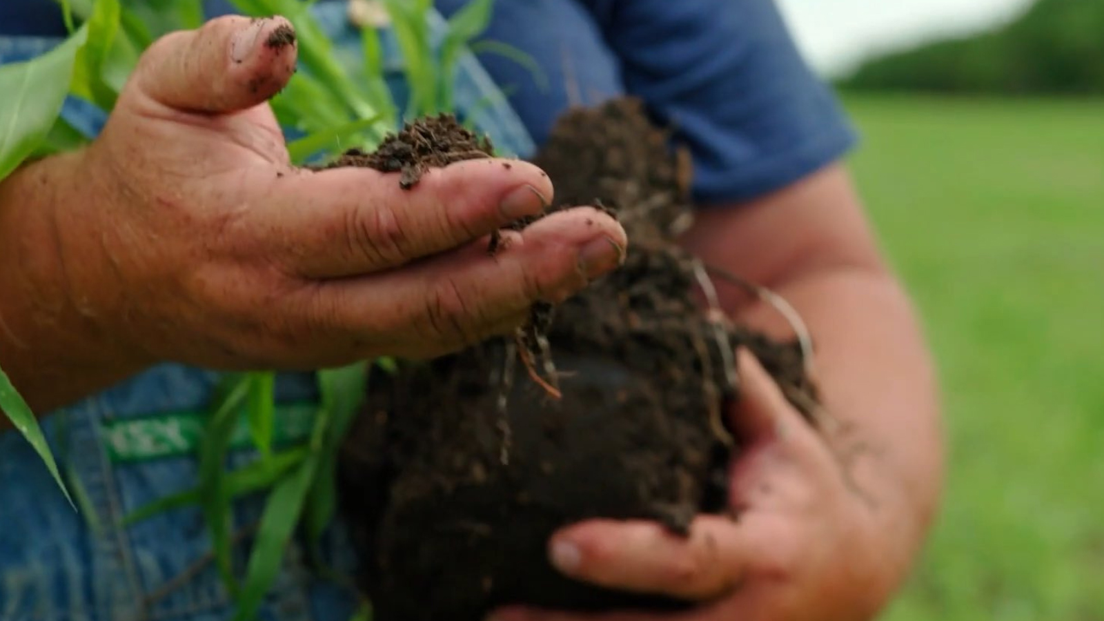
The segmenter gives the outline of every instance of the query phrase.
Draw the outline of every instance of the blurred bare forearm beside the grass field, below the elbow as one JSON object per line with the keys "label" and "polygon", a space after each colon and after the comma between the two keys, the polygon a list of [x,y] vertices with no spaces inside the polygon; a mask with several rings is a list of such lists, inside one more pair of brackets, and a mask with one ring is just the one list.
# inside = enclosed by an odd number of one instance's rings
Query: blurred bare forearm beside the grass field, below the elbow
{"label": "blurred bare forearm beside the grass field, below the elbow", "polygon": [[[863,269],[810,273],[772,290],[813,336],[825,408],[841,425],[829,441],[870,503],[871,535],[900,578],[931,524],[943,474],[936,380],[910,301],[891,275]],[[781,327],[767,305],[737,312],[752,325]]]}

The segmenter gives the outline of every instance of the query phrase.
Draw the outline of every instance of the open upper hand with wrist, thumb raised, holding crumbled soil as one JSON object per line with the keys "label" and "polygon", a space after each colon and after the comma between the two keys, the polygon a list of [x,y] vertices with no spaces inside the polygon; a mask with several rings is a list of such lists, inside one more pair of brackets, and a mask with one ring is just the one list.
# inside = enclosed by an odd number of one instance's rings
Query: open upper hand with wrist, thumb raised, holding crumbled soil
{"label": "open upper hand with wrist, thumb raised, holding crumbled soil", "polygon": [[524,162],[465,161],[412,190],[370,169],[293,167],[266,103],[296,64],[280,28],[230,17],[161,39],[92,146],[0,185],[0,286],[19,296],[0,303],[0,364],[32,404],[72,392],[36,389],[50,370],[87,393],[161,361],[439,355],[618,264],[624,230],[590,208],[487,254],[488,234],[552,198]]}

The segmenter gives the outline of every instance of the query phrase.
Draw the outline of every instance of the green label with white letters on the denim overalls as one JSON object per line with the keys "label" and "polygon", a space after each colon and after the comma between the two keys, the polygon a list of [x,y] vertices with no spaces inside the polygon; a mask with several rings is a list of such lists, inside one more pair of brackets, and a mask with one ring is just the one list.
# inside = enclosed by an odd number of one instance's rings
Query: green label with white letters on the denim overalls
{"label": "green label with white letters on the denim overalls", "polygon": [[[243,409],[242,412],[244,411]],[[318,406],[314,403],[277,404],[273,444],[307,439],[317,413]],[[203,438],[206,418],[208,412],[194,410],[105,422],[102,429],[108,456],[114,462],[137,462],[194,455]],[[238,417],[230,446],[231,449],[253,446],[244,415]]]}

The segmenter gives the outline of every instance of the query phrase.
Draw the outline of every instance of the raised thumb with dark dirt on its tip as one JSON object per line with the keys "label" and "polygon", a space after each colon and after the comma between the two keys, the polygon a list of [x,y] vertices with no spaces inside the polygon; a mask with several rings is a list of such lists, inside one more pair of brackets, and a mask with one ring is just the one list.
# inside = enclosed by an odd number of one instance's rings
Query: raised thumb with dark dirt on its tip
{"label": "raised thumb with dark dirt on its tip", "polygon": [[251,108],[295,73],[295,30],[284,18],[237,15],[159,39],[135,71],[135,86],[168,107],[225,114]]}

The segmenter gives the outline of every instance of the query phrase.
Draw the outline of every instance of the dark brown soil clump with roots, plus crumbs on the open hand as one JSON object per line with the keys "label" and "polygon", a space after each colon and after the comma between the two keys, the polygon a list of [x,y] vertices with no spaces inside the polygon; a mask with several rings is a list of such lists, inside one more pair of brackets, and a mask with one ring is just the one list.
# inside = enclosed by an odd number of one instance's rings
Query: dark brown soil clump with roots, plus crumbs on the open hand
{"label": "dark brown soil clump with roots, plus crumbs on the open hand", "polygon": [[[342,165],[401,171],[406,183],[426,166],[491,150],[456,136],[448,119],[429,119]],[[736,398],[736,346],[790,394],[815,399],[796,344],[707,313],[704,269],[673,239],[691,218],[689,167],[639,104],[569,113],[535,162],[558,204],[601,201],[624,223],[625,264],[554,308],[539,305],[527,338],[373,375],[340,488],[378,621],[479,621],[513,603],[686,606],[564,578],[546,560],[549,537],[595,517],[686,534],[696,514],[728,511],[739,444],[723,409]],[[538,339],[551,347],[559,398],[530,381]]]}

